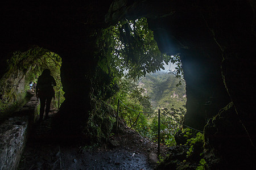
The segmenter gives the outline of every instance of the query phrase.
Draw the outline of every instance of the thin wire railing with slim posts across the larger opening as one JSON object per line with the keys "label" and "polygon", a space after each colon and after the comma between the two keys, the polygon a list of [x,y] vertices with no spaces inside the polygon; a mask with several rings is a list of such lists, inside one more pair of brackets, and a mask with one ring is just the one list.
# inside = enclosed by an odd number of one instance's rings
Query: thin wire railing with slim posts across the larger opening
{"label": "thin wire railing with slim posts across the larger opening", "polygon": [[[116,128],[117,128],[116,131],[117,131],[117,132],[118,132],[118,116],[119,116],[119,105],[120,105],[120,103],[121,103],[123,106],[125,106],[126,108],[130,109],[131,111],[139,112],[139,114],[140,114],[140,113],[158,113],[158,156],[159,156],[159,155],[160,155],[160,114],[161,114],[160,109],[158,109],[158,112],[141,112],[141,111],[136,111],[136,110],[134,110],[133,108],[128,107],[127,105],[125,105],[124,103],[122,103],[121,100],[118,99],[118,103],[117,103],[117,120],[116,120]],[[170,118],[172,121],[175,121],[175,122],[179,123],[177,120],[175,120],[174,118],[168,116],[167,114],[165,114],[165,113],[162,113],[162,114],[163,114],[164,116]],[[138,118],[139,118],[139,115],[138,115],[138,117],[136,118],[135,122],[137,122]],[[135,124],[135,122],[134,122],[134,124]],[[186,126],[186,127],[189,128],[189,129],[193,129],[193,130],[199,131],[200,133],[204,133],[203,131],[198,130],[198,129],[195,129],[195,128],[192,128],[191,126],[188,126],[188,125],[185,125],[185,124],[183,124],[183,126]]]}

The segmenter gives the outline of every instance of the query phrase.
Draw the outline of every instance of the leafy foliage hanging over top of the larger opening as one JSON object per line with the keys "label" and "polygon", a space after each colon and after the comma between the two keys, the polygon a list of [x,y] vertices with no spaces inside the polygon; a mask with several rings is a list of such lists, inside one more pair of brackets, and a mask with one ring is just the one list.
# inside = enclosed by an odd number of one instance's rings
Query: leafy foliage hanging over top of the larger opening
{"label": "leafy foliage hanging over top of the larger opening", "polygon": [[105,73],[137,79],[146,73],[164,69],[171,56],[162,54],[153,32],[148,29],[147,19],[122,20],[102,29],[97,40],[100,58],[98,65]]}

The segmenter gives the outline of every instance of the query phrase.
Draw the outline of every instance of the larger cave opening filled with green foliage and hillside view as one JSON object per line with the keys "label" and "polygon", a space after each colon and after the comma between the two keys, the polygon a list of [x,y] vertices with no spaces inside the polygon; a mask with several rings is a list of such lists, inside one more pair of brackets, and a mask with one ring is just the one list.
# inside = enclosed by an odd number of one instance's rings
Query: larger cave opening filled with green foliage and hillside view
{"label": "larger cave opening filled with green foliage and hillside view", "polygon": [[[174,134],[181,129],[186,112],[186,91],[180,56],[168,56],[160,52],[146,18],[124,19],[104,29],[97,45],[100,58],[98,66],[109,75],[110,82],[108,88],[99,89],[101,92],[98,94],[115,92],[108,102],[117,108],[117,100],[121,100],[122,120],[153,141],[158,136],[160,109],[171,117],[169,119],[162,114],[161,141],[174,145]],[[164,66],[171,63],[175,64],[174,69],[169,67],[165,70]],[[118,91],[114,90],[115,85],[118,86]],[[103,97],[98,96],[99,99]]]}

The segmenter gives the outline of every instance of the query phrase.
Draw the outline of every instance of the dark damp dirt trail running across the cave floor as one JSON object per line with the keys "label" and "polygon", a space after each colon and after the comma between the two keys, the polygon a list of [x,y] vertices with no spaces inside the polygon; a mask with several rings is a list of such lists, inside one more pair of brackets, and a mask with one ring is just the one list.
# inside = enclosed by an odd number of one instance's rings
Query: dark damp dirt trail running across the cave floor
{"label": "dark damp dirt trail running across the cave floor", "polygon": [[34,124],[18,169],[154,169],[157,165],[157,145],[130,129],[101,146],[51,141],[54,116],[51,109],[49,119]]}

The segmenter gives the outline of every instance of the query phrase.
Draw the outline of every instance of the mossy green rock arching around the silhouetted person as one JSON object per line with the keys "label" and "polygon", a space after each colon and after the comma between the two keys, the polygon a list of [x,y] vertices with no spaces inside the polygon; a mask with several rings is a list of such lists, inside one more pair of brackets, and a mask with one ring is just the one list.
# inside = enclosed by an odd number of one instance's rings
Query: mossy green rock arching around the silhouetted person
{"label": "mossy green rock arching around the silhouetted person", "polygon": [[[57,109],[65,100],[63,86],[60,78],[61,57],[47,49],[35,46],[25,52],[14,52],[7,59],[7,70],[1,78],[1,121],[10,117],[13,113],[35,95],[35,87],[39,75],[44,69],[51,70],[57,86],[55,87],[55,98],[51,103],[52,109]],[[38,110],[40,108],[40,104]],[[38,112],[39,113],[39,112]]]}

